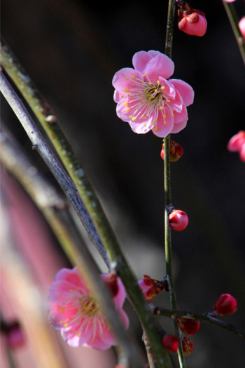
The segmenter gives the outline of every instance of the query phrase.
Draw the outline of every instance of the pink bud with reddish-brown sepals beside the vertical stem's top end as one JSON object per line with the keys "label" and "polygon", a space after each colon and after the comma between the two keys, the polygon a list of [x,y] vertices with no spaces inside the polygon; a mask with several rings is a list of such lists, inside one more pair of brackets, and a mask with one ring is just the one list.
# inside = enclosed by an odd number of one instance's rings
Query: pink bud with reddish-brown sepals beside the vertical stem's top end
{"label": "pink bud with reddish-brown sepals beside the vertical stem's top end", "polygon": [[177,0],[179,6],[179,29],[191,36],[204,36],[207,31],[207,19],[202,11],[190,7],[185,1]]}

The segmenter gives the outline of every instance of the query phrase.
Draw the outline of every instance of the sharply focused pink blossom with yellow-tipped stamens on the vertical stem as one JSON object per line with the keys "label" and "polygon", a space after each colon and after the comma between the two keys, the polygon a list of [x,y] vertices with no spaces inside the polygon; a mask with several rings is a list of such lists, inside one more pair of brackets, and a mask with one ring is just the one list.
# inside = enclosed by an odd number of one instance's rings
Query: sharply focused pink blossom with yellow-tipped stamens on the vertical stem
{"label": "sharply focused pink blossom with yellow-tipped stamens on the vertical stem", "polygon": [[117,115],[138,134],[150,130],[158,137],[186,127],[186,107],[193,104],[194,91],[180,79],[169,79],[174,62],[159,51],[134,54],[133,68],[120,69],[113,77]]}

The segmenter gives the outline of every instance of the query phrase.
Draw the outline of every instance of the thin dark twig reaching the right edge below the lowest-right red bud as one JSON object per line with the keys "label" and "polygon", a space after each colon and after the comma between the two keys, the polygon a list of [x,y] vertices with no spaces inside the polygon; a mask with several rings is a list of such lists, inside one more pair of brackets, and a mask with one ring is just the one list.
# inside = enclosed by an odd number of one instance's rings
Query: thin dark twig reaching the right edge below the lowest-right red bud
{"label": "thin dark twig reaching the right edge below the lowest-right red bud", "polygon": [[200,320],[202,322],[207,322],[211,325],[227,329],[228,331],[233,332],[234,334],[237,334],[245,339],[245,331],[242,331],[237,327],[234,327],[228,323],[218,320],[217,318],[214,318],[214,316],[211,315],[211,313],[192,313],[186,311],[174,311],[172,309],[165,309],[160,307],[153,307],[153,312],[155,315],[170,317],[173,320],[176,320],[176,318],[193,318],[193,320]]}

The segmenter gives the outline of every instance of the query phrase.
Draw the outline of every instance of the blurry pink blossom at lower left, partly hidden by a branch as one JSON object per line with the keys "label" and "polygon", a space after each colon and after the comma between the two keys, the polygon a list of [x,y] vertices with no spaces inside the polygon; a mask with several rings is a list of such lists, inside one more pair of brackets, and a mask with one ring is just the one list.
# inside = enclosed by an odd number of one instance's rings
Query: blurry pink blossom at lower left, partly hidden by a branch
{"label": "blurry pink blossom at lower left, partly hidden by a branch", "polygon": [[[108,274],[100,275],[106,282]],[[129,325],[123,311],[126,292],[123,282],[117,278],[118,292],[113,296],[125,328]],[[117,344],[105,315],[99,308],[78,268],[62,268],[55,276],[48,297],[49,318],[52,327],[59,329],[69,346],[86,346],[106,350]]]}

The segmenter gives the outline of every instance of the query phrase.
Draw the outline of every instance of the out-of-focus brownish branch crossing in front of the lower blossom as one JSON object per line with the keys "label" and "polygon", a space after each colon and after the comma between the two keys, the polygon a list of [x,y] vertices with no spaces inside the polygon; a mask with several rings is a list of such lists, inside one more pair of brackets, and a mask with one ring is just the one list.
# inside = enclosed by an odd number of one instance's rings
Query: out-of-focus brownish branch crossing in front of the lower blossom
{"label": "out-of-focus brownish branch crossing in front of the lower blossom", "polygon": [[139,356],[135,357],[134,346],[127,339],[125,329],[111,302],[109,292],[106,290],[104,282],[99,278],[99,269],[73,223],[64,198],[59,196],[55,189],[43,179],[38,170],[29,162],[18,143],[14,142],[9,132],[6,132],[6,128],[4,129],[3,125],[1,128],[5,130],[0,135],[0,152],[3,165],[15,175],[29,193],[34,203],[43,213],[73,266],[78,265],[83,273],[83,277],[90,285],[94,295],[96,295],[106,319],[109,320],[117,336],[118,345],[120,346],[119,361],[130,363],[130,360],[132,360],[134,367],[137,367],[140,358]]}

